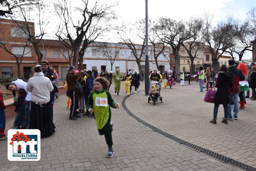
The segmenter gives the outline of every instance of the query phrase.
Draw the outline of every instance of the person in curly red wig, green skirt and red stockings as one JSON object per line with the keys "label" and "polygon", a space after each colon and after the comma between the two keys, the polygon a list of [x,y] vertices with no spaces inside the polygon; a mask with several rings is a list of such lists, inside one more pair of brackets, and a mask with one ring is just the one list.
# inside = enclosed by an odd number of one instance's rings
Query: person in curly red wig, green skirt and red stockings
{"label": "person in curly red wig, green skirt and red stockings", "polygon": [[[242,73],[247,76],[247,67],[244,63],[242,63],[241,61],[239,61],[239,65],[237,67],[237,69],[241,70]],[[239,98],[240,98],[240,107],[239,110],[245,110],[245,106],[244,106],[244,92],[245,91],[249,91],[249,83],[246,80],[247,78],[245,77],[245,80],[243,81],[239,81]]]}

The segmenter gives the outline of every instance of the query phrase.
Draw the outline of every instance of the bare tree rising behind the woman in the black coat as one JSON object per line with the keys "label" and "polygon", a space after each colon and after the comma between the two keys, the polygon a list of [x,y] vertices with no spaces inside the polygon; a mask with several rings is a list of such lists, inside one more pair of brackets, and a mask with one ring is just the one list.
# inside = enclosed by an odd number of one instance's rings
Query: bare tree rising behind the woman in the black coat
{"label": "bare tree rising behind the woman in the black coat", "polygon": [[209,15],[204,19],[204,31],[203,37],[207,43],[207,49],[211,52],[212,62],[214,70],[219,70],[218,59],[225,52],[228,47],[231,46],[232,40],[236,36],[234,31],[236,25],[232,17],[227,18],[226,21],[219,21],[219,23],[213,27],[212,19]]}

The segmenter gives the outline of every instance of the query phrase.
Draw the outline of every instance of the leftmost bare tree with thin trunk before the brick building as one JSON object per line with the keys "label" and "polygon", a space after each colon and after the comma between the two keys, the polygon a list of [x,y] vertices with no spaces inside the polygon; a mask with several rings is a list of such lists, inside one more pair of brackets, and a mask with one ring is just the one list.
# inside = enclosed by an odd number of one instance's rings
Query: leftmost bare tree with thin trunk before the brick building
{"label": "leftmost bare tree with thin trunk before the brick building", "polygon": [[[18,27],[19,28],[19,27]],[[0,31],[0,48],[4,49],[7,53],[9,53],[10,55],[12,55],[15,60],[16,60],[16,64],[17,64],[17,70],[18,70],[18,77],[20,77],[20,65],[22,63],[22,58],[23,56],[27,55],[28,53],[31,52],[32,47],[29,46],[30,42],[28,42],[28,40],[26,39],[25,34],[19,30],[16,29],[13,31],[13,34],[15,34],[15,37],[10,38],[8,35],[8,31],[7,29],[1,29]],[[12,42],[15,40],[19,40],[19,43],[21,44],[21,46],[10,46],[9,42]],[[28,47],[29,46],[29,47]],[[17,52],[17,48],[19,48],[19,52]],[[12,50],[12,48],[16,48],[15,50]]]}

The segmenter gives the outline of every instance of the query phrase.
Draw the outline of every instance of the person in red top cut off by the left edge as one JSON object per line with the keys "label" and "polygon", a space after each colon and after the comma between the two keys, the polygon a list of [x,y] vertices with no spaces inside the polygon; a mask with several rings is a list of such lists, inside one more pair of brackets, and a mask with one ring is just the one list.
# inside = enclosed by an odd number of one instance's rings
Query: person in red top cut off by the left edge
{"label": "person in red top cut off by the left edge", "polygon": [[[1,85],[0,85],[1,88]],[[6,113],[6,108],[3,103],[3,93],[0,92],[0,140],[7,140],[8,138],[4,134],[5,130],[5,113]]]}

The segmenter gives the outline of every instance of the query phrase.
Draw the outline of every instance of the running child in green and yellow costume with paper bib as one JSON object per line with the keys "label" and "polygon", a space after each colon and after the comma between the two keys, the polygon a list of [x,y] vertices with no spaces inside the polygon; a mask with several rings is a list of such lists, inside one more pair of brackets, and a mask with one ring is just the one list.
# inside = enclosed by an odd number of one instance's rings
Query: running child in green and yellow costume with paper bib
{"label": "running child in green and yellow costume with paper bib", "polygon": [[94,112],[97,128],[100,135],[105,135],[106,143],[108,144],[107,157],[114,156],[114,150],[112,148],[112,127],[111,124],[111,110],[110,107],[119,108],[120,105],[115,103],[111,98],[111,95],[106,89],[108,89],[109,81],[105,78],[98,77],[94,79],[93,92],[89,95],[86,110],[89,113]]}

